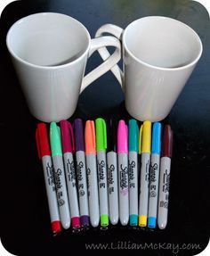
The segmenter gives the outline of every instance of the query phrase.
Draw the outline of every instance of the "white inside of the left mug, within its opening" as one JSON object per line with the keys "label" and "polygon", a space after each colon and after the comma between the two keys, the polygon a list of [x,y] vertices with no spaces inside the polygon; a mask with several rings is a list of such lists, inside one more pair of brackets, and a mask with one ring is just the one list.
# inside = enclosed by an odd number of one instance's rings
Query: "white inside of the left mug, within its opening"
{"label": "white inside of the left mug, within its opening", "polygon": [[36,13],[17,21],[6,38],[16,58],[47,67],[77,60],[88,50],[89,42],[90,35],[79,21],[54,12]]}

